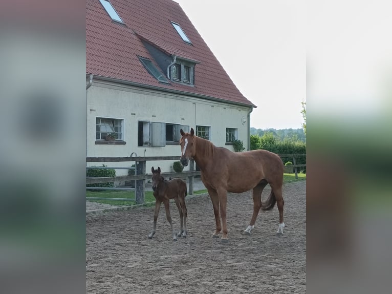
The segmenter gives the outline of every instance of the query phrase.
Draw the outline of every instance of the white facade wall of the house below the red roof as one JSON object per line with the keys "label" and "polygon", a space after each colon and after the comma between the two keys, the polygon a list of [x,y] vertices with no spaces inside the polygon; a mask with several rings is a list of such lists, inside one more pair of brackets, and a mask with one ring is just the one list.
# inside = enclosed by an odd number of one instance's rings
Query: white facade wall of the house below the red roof
{"label": "white facade wall of the house below the red roof", "polygon": [[[138,88],[120,83],[94,79],[86,92],[87,99],[87,150],[88,157],[127,157],[133,152],[137,156],[179,156],[178,142],[166,142],[165,146],[142,145],[148,141],[150,122],[187,125],[196,131],[197,125],[209,127],[209,140],[216,146],[233,151],[226,145],[226,128],[236,130],[236,139],[243,141],[249,150],[249,114],[251,107],[212,101],[175,93]],[[111,118],[121,121],[121,140],[125,144],[108,144],[97,140],[97,118]],[[139,123],[143,121],[144,123]],[[139,134],[140,128],[143,135]],[[139,137],[140,136],[140,137]],[[140,138],[140,139],[139,139]],[[175,139],[176,140],[176,139]],[[100,141],[100,142],[98,142]],[[135,155],[134,155],[135,156]],[[134,162],[112,162],[108,166],[130,166]],[[173,161],[150,161],[151,166],[161,167],[163,172],[172,171]],[[89,165],[101,165],[90,163]],[[186,167],[184,170],[188,170]],[[126,170],[116,170],[116,175],[126,175]]]}

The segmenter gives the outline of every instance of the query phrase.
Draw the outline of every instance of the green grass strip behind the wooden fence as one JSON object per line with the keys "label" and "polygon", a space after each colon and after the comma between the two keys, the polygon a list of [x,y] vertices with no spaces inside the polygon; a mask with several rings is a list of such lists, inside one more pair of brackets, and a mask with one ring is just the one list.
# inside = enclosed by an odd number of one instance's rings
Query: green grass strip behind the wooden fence
{"label": "green grass strip behind the wooden fence", "polygon": [[[293,181],[300,181],[300,180],[306,180],[306,174],[298,174],[298,179],[295,178],[295,174],[284,174],[283,175],[283,182],[288,183],[288,182],[293,182]],[[207,193],[207,189],[204,190],[199,190],[199,191],[193,191],[193,195],[198,195],[198,194],[204,194]],[[113,190],[102,190],[102,191],[86,191],[86,197],[104,197],[104,198],[130,198],[130,199],[135,199],[135,192],[134,191],[113,191]],[[111,204],[111,205],[134,205],[136,204],[135,200],[92,200],[89,199],[89,201],[94,201],[98,203],[104,203],[104,204]],[[155,197],[153,195],[152,191],[146,191],[144,195],[144,201],[145,202],[155,202]],[[146,206],[150,206],[154,204],[146,204]]]}

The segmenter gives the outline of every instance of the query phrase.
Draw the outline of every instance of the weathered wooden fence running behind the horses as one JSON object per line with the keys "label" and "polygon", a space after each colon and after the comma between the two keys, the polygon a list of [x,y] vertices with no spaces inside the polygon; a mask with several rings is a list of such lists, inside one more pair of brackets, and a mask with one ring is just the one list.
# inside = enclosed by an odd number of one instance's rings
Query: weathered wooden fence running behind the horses
{"label": "weathered wooden fence running behind the horses", "polygon": [[[306,154],[279,154],[280,157],[292,157],[295,172],[295,178],[298,178],[298,168],[306,167],[306,164],[296,164],[296,157],[303,157]],[[146,161],[157,161],[157,160],[180,160],[179,156],[136,156],[136,157],[86,157],[86,162],[136,162],[135,175],[133,176],[116,176],[116,177],[86,177],[86,185],[97,184],[97,183],[108,183],[108,182],[118,182],[118,181],[136,181],[135,185],[135,196],[136,203],[144,203],[145,194],[145,181],[151,178],[151,175],[146,174]],[[96,166],[94,166],[97,168]],[[88,169],[89,166],[86,167]],[[102,167],[99,167],[102,168]],[[124,167],[107,167],[110,169],[124,169]],[[126,167],[125,169],[132,169],[132,167]],[[182,173],[163,173],[166,178],[177,177],[184,180],[189,179],[188,185],[188,195],[193,194],[193,178],[195,176],[200,176],[200,171],[194,170],[194,161],[189,160],[189,172]],[[91,188],[91,187],[86,187]],[[121,188],[115,188],[116,190],[124,190]],[[129,189],[126,189],[129,190]],[[94,197],[86,197],[90,199],[97,199]],[[106,200],[119,200],[114,198],[105,198]],[[124,199],[121,199],[124,200]]]}

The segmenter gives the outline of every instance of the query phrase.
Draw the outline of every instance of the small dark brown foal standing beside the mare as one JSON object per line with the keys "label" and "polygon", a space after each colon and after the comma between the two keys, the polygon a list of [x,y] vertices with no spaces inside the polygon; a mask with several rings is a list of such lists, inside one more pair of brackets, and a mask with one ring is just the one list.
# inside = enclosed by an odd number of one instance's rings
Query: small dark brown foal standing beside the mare
{"label": "small dark brown foal standing beside the mare", "polygon": [[[153,191],[155,197],[155,213],[154,213],[154,227],[151,231],[151,234],[148,235],[148,238],[153,238],[155,234],[155,229],[157,228],[157,219],[159,214],[159,208],[161,207],[161,203],[165,205],[166,210],[166,218],[170,224],[170,229],[173,232],[173,240],[177,241],[177,236],[186,237],[186,206],[185,206],[185,196],[186,193],[186,182],[181,179],[172,179],[170,181],[165,180],[161,176],[161,168],[158,166],[158,170],[154,170],[154,166],[151,167],[151,172],[153,172]],[[169,200],[174,199],[178,211],[180,213],[181,219],[181,228],[178,235],[176,234],[176,230],[173,229],[173,225],[171,224],[171,216],[169,209]]]}

